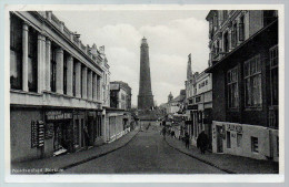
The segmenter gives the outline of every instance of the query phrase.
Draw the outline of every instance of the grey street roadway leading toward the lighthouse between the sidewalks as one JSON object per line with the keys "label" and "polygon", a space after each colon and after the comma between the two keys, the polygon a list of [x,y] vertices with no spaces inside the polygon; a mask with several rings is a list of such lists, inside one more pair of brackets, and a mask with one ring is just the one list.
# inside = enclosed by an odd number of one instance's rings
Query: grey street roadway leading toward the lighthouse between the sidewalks
{"label": "grey street roadway leading toward the lighthouse between the sidewalks", "polygon": [[160,127],[140,132],[127,146],[62,174],[223,174],[171,148]]}

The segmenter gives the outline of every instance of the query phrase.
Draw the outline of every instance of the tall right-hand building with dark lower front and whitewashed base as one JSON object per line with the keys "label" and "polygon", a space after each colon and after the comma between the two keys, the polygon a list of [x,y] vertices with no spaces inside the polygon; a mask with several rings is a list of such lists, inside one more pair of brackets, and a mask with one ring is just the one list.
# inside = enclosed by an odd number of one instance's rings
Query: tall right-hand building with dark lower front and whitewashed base
{"label": "tall right-hand building with dark lower front and whitewashed base", "polygon": [[212,150],[279,158],[278,12],[211,10]]}

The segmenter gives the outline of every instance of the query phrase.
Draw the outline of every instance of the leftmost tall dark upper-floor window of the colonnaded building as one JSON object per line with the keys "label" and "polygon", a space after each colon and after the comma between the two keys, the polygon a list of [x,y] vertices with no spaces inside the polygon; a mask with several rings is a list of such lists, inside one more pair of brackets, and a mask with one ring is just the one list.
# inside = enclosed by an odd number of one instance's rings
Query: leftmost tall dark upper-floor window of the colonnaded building
{"label": "leftmost tall dark upper-floor window of the colonnaded building", "polygon": [[11,14],[10,24],[10,84],[22,90],[22,21]]}

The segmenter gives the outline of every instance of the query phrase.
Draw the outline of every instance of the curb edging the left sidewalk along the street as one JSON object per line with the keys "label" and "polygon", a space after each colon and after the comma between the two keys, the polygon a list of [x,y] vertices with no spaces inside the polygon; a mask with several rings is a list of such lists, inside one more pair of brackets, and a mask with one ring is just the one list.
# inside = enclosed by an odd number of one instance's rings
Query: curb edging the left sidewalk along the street
{"label": "curb edging the left sidewalk along the street", "polygon": [[64,167],[60,167],[60,168],[58,168],[58,169],[56,169],[56,170],[53,170],[53,172],[47,172],[47,173],[43,173],[43,174],[58,174],[58,173],[63,172],[63,170],[66,170],[66,169],[69,169],[69,168],[71,168],[71,167],[78,166],[78,165],[80,165],[80,164],[90,162],[90,160],[92,160],[92,159],[96,159],[96,158],[102,157],[102,156],[104,156],[104,155],[108,155],[108,154],[110,154],[110,153],[112,153],[112,152],[116,152],[116,150],[118,150],[118,149],[120,149],[120,148],[127,146],[127,145],[139,134],[139,132],[140,132],[140,129],[138,129],[138,132],[137,132],[126,144],[123,144],[123,145],[121,145],[121,146],[119,146],[119,147],[117,147],[117,148],[113,148],[113,149],[108,150],[108,152],[106,152],[106,153],[101,153],[101,154],[94,155],[94,156],[92,156],[92,157],[82,159],[82,160],[77,162],[77,163],[69,164],[69,165],[67,165],[67,166],[64,166]]}

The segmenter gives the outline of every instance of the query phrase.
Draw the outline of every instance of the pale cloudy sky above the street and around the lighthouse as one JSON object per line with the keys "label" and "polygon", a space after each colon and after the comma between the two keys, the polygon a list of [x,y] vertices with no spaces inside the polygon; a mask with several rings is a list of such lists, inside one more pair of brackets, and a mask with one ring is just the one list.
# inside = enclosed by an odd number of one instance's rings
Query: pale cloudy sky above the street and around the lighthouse
{"label": "pale cloudy sky above the street and around the lighthouse", "polygon": [[208,11],[202,10],[93,10],[53,11],[80,40],[90,46],[106,46],[110,81],[127,82],[132,105],[139,91],[140,43],[147,38],[153,100],[166,103],[185,89],[188,55],[192,71],[208,67]]}

